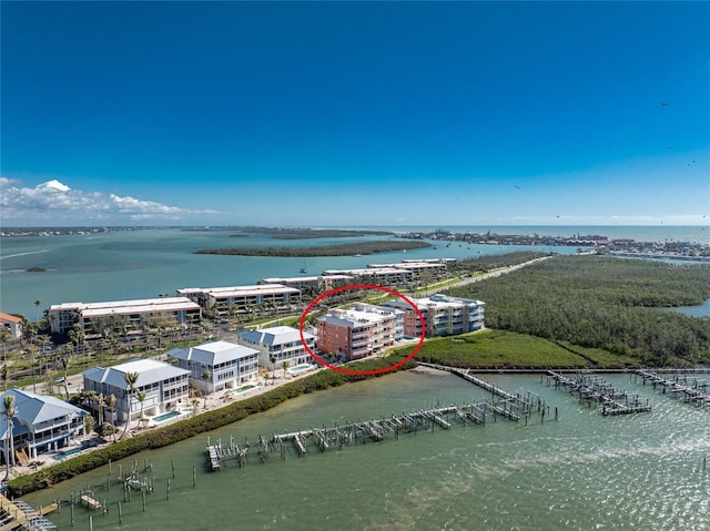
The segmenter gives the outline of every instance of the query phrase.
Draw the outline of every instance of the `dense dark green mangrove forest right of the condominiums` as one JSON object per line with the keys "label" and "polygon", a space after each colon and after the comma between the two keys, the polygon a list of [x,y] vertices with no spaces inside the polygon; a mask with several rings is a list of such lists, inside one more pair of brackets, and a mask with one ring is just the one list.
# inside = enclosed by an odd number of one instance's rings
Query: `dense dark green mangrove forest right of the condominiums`
{"label": "dense dark green mangrove forest right of the condominiums", "polygon": [[710,298],[708,265],[555,256],[448,293],[485,300],[490,328],[636,357],[643,365],[710,362],[710,319],[668,309]]}

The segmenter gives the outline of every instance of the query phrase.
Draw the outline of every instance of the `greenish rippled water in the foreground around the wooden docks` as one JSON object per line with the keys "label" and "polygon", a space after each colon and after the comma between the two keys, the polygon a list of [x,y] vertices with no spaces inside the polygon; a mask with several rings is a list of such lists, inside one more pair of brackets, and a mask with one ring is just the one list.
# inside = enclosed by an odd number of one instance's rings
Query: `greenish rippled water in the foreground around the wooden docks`
{"label": "greenish rippled water in the foreground around the wooden docks", "polygon": [[[700,376],[702,377],[702,375]],[[710,409],[643,386],[633,376],[607,381],[649,399],[652,411],[602,417],[540,375],[484,375],[511,391],[532,391],[558,409],[540,422],[489,419],[400,435],[398,440],[321,453],[256,456],[245,468],[205,469],[206,435],[122,461],[153,463],[155,491],[118,502],[108,466],[26,498],[33,506],[94,489],[108,514],[68,507],[50,519],[62,530],[703,530],[710,529]],[[260,435],[399,415],[437,404],[480,401],[486,391],[456,376],[415,370],[318,391],[210,433],[254,443]],[[312,449],[311,449],[312,448]],[[255,445],[252,446],[255,453]],[[175,478],[172,478],[172,463]],[[196,482],[193,487],[193,467]],[[118,463],[112,464],[115,480]],[[168,497],[168,480],[171,480]],[[94,487],[95,486],[95,487]]]}

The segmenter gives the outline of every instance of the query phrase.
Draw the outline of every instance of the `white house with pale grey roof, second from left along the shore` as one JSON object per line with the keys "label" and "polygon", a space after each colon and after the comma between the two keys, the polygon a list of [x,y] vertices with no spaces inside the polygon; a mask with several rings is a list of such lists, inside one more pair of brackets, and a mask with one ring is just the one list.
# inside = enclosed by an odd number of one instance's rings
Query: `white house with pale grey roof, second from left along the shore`
{"label": "white house with pale grey roof, second from left along the shore", "polygon": [[[133,394],[125,381],[129,372],[139,375]],[[138,418],[141,408],[146,416],[174,411],[186,402],[190,394],[190,371],[155,359],[134,359],[109,368],[94,367],[82,375],[84,390],[104,397],[115,396],[116,423]],[[143,404],[136,397],[138,391],[145,394]]]}

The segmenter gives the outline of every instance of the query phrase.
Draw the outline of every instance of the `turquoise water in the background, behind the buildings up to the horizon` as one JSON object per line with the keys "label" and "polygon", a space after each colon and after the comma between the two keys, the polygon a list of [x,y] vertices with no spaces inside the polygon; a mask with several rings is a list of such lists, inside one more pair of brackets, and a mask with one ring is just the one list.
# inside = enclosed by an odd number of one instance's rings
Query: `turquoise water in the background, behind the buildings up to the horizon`
{"label": "turquoise water in the background, behind the buildings up to the horizon", "polygon": [[[364,227],[368,228],[368,227]],[[383,228],[383,227],[369,227]],[[430,231],[440,227],[385,227],[393,232]],[[638,241],[681,239],[707,242],[704,227],[444,227],[455,232],[491,231],[497,234],[539,234],[574,236],[601,234],[610,238]],[[367,264],[399,262],[403,258],[471,258],[504,254],[517,249],[575,253],[576,247],[517,247],[499,245],[453,244],[408,253],[334,258],[273,258],[246,256],[195,255],[194,251],[230,246],[311,246],[357,238],[278,241],[262,234],[233,238],[235,231],[186,232],[178,228],[112,232],[91,235],[50,237],[3,237],[0,239],[0,310],[19,313],[34,320],[34,300],[41,310],[52,304],[151,298],[173,295],[185,287],[216,287],[256,284],[265,277],[298,276],[304,266],[308,274],[323,269],[364,267]],[[383,236],[381,238],[386,238]],[[704,238],[704,239],[703,239]],[[372,237],[359,238],[362,241]],[[436,247],[436,248],[435,248]],[[44,273],[27,273],[43,267]]]}

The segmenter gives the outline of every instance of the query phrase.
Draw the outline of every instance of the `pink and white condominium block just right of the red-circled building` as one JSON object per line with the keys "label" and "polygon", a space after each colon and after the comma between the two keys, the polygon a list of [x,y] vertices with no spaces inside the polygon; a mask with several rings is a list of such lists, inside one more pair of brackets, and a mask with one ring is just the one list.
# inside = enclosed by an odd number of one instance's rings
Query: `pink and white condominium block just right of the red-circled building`
{"label": "pink and white condominium block just right of the red-circled building", "polygon": [[[480,300],[437,294],[428,298],[415,298],[412,302],[424,317],[426,337],[453,336],[485,327],[485,303]],[[405,336],[422,336],[422,319],[408,303],[395,299],[383,303],[383,306],[405,312]]]}

